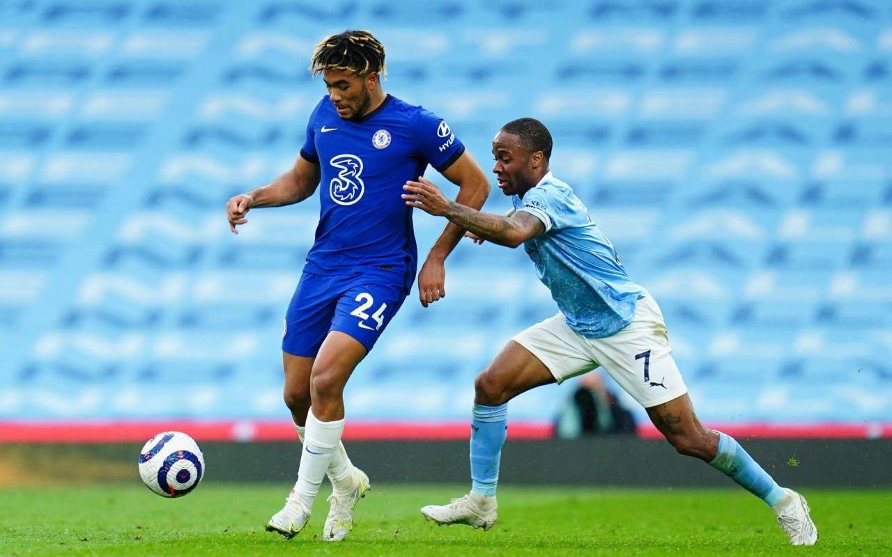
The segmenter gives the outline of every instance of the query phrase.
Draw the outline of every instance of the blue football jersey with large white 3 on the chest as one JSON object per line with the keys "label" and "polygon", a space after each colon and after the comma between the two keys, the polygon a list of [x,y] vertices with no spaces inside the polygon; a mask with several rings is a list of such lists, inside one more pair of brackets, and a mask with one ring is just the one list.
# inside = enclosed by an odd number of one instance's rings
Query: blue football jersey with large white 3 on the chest
{"label": "blue football jersey with large white 3 on the chest", "polygon": [[465,146],[433,112],[387,95],[361,119],[341,119],[328,95],[307,124],[301,157],[317,163],[319,224],[304,269],[330,274],[365,268],[415,280],[412,209],[401,198],[407,180],[430,164],[449,168]]}

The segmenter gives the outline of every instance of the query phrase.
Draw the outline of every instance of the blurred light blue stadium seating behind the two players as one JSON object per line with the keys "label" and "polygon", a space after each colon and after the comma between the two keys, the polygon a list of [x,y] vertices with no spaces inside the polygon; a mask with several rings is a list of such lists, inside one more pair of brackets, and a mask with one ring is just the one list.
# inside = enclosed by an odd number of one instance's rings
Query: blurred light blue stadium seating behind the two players
{"label": "blurred light blue stadium seating behind the two players", "polygon": [[[0,420],[287,419],[318,201],[237,236],[223,208],[292,163],[312,47],[348,28],[483,168],[509,119],[551,128],[704,422],[892,422],[892,8],[861,0],[0,3]],[[415,221],[424,257],[443,222]],[[351,419],[464,420],[475,373],[557,310],[491,244],[458,246],[446,291],[407,299]]]}

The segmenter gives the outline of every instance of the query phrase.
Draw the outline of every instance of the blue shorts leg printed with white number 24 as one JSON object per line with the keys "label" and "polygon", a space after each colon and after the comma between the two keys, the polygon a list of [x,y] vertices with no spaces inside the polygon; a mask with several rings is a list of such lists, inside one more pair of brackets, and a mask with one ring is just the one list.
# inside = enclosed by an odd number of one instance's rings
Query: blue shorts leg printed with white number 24
{"label": "blue shorts leg printed with white number 24", "polygon": [[370,352],[406,294],[402,283],[355,279],[338,299],[331,330],[351,336]]}

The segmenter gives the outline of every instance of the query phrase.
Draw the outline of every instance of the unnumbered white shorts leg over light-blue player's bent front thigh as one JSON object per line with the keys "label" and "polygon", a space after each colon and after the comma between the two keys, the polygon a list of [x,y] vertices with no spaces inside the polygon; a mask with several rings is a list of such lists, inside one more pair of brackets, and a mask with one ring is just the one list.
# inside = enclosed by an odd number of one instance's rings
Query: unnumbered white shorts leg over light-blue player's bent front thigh
{"label": "unnumbered white shorts leg over light-blue player's bent front thigh", "polygon": [[566,324],[562,314],[524,329],[511,340],[535,356],[558,383],[599,365],[586,353],[585,340]]}

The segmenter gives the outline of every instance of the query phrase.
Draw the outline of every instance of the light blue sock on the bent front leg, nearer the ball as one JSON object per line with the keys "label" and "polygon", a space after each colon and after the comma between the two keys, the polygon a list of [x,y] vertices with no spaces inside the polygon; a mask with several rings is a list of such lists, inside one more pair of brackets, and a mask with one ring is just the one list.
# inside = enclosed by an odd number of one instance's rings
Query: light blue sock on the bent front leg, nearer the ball
{"label": "light blue sock on the bent front leg, nearer the ball", "polygon": [[508,435],[508,403],[474,405],[471,420],[471,491],[495,496],[499,484],[501,446]]}

